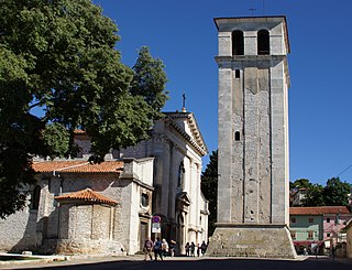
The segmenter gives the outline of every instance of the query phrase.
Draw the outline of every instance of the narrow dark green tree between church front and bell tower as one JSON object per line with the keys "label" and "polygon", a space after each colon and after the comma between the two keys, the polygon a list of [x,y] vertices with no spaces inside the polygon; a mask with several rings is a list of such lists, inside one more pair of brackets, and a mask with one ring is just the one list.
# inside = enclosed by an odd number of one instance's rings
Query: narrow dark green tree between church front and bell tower
{"label": "narrow dark green tree between church front and bell tower", "polygon": [[212,151],[210,161],[201,174],[201,192],[209,201],[209,235],[216,229],[218,204],[218,150]]}

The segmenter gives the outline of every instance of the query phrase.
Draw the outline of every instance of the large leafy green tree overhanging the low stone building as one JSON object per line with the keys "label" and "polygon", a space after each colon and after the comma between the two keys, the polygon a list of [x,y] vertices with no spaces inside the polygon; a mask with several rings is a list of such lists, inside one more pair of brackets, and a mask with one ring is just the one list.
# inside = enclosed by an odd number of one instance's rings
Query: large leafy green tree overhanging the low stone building
{"label": "large leafy green tree overhanging the low stone building", "polygon": [[[0,1],[1,218],[24,206],[33,155],[75,154],[76,128],[89,133],[97,162],[147,138],[166,100],[164,66],[148,57],[156,64],[136,68],[141,54],[134,71],[122,64],[117,32],[90,0]],[[139,77],[157,84],[139,91]]]}

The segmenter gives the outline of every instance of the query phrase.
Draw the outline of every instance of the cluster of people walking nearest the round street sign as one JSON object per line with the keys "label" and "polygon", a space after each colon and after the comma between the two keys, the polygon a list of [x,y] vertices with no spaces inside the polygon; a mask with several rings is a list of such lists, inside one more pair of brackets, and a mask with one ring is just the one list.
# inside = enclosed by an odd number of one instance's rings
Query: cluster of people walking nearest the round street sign
{"label": "cluster of people walking nearest the round street sign", "polygon": [[160,258],[161,260],[164,260],[163,258],[166,256],[174,256],[175,255],[175,245],[176,241],[170,240],[170,244],[166,241],[166,239],[163,239],[161,241],[161,238],[156,238],[155,241],[153,242],[150,238],[145,240],[144,244],[144,260],[146,261],[147,257],[153,260],[153,252],[154,252],[154,258],[157,260]]}

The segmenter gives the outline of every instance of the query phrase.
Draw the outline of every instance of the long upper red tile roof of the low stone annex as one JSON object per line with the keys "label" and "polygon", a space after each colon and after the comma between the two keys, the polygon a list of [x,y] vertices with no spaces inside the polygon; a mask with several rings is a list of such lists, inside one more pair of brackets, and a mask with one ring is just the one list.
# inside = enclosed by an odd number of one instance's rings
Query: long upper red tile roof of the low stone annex
{"label": "long upper red tile roof of the low stone annex", "polygon": [[34,162],[35,172],[69,172],[69,173],[120,173],[123,171],[123,161],[105,161],[91,164],[88,161],[41,161]]}

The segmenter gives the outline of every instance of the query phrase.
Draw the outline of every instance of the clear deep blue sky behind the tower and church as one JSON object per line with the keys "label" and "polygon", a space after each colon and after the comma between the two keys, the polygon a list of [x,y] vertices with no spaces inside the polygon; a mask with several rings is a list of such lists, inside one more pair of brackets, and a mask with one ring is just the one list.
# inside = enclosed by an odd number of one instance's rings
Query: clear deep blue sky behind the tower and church
{"label": "clear deep blue sky behind the tower and church", "polygon": [[[218,145],[218,53],[213,18],[286,15],[290,181],[352,183],[351,0],[94,0],[119,28],[122,62],[135,63],[146,45],[166,65],[165,111],[195,114],[211,151]],[[251,10],[255,9],[255,10]],[[204,168],[209,160],[205,159]],[[344,171],[348,169],[346,171]],[[344,171],[344,172],[343,172]],[[342,174],[340,174],[343,172]]]}

